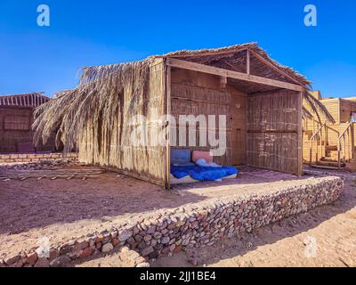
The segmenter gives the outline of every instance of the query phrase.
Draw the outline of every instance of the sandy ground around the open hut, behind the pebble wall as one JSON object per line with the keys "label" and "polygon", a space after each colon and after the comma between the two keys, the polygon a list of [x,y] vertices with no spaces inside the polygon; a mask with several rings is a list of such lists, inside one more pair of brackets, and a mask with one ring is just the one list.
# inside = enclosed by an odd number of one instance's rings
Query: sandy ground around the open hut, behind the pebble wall
{"label": "sandy ground around the open hut, behind the pebble wall", "polygon": [[281,184],[294,183],[300,182],[293,175],[253,168],[229,182],[176,186],[174,191],[116,173],[86,181],[0,181],[0,258],[35,248],[43,237],[52,245],[62,244],[158,210],[277,191]]}

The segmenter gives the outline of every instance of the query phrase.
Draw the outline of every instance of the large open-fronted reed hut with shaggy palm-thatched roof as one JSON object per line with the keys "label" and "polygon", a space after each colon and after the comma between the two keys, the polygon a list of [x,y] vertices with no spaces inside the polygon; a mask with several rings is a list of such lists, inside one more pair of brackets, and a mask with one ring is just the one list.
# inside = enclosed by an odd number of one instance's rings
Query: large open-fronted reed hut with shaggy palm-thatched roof
{"label": "large open-fronted reed hut with shaggy palm-thatched roof", "polygon": [[[181,126],[176,134],[170,119],[157,118],[225,115],[226,151],[215,162],[302,175],[302,100],[309,84],[255,43],[89,67],[76,89],[37,109],[36,141],[59,126],[58,142],[65,150],[78,142],[81,160],[168,188],[171,149],[180,147],[172,145],[172,136],[179,136]],[[130,142],[134,115],[146,118],[145,145]],[[199,137],[206,126],[196,127],[197,141],[206,140]],[[166,144],[153,143],[162,133]]]}

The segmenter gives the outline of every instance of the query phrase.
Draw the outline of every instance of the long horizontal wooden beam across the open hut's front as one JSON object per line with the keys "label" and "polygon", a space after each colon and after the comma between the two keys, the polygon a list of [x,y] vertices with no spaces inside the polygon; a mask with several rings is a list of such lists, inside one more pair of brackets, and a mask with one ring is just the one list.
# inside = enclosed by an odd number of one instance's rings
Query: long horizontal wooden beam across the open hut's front
{"label": "long horizontal wooden beam across the open hut's front", "polygon": [[270,78],[256,77],[254,75],[249,75],[238,71],[231,71],[228,69],[215,68],[213,66],[208,66],[205,64],[200,64],[200,63],[195,63],[190,61],[181,61],[181,60],[169,59],[169,58],[167,58],[166,62],[168,66],[174,68],[189,69],[189,70],[213,74],[221,77],[230,77],[230,78],[235,78],[248,82],[254,82],[257,84],[270,85],[270,86],[280,87],[283,89],[289,89],[298,92],[302,92],[304,90],[303,85],[295,85],[295,84],[274,80]]}

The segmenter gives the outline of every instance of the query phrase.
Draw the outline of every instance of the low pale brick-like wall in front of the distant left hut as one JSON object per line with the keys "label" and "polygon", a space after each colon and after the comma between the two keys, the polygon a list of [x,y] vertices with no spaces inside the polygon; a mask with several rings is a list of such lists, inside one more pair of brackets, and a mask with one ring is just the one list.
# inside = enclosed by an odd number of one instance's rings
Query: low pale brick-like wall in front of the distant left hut
{"label": "low pale brick-like wall in front of the distant left hut", "polygon": [[39,162],[53,159],[77,159],[77,153],[24,153],[0,154],[0,163]]}

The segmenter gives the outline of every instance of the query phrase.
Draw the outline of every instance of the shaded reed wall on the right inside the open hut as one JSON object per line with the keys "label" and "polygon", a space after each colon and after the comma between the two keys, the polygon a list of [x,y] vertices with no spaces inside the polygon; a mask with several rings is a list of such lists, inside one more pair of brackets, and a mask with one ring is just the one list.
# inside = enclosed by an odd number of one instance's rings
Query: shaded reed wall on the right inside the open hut
{"label": "shaded reed wall on the right inside the open hut", "polygon": [[293,91],[247,98],[247,163],[298,174],[298,95]]}

